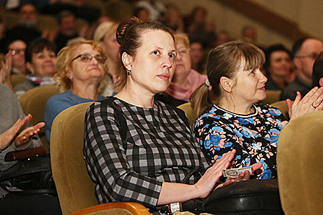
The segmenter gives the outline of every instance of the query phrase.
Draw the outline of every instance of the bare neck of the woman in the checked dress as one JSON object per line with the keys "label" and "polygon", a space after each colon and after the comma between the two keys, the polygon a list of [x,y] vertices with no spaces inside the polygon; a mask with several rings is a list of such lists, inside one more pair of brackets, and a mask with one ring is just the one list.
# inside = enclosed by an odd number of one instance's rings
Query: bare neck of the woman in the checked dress
{"label": "bare neck of the woman in the checked dress", "polygon": [[131,86],[129,82],[127,82],[122,90],[115,95],[116,98],[120,98],[120,100],[124,100],[124,102],[143,108],[154,107],[154,96],[155,95],[149,91],[143,91],[139,87]]}

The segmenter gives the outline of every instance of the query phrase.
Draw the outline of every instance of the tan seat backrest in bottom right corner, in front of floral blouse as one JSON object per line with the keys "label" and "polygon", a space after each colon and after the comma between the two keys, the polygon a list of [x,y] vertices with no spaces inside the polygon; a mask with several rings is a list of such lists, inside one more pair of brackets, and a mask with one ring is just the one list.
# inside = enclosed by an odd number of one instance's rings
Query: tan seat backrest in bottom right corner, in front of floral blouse
{"label": "tan seat backrest in bottom right corner, in front of floral blouse", "polygon": [[286,215],[323,212],[323,111],[291,120],[280,132],[278,187]]}

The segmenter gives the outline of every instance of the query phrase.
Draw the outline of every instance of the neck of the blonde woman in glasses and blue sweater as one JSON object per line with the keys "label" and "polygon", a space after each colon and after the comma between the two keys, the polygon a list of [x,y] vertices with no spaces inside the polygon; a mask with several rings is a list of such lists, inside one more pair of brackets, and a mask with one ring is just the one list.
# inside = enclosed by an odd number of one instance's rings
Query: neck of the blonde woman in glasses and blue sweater
{"label": "neck of the blonde woman in glasses and blue sweater", "polygon": [[97,84],[72,84],[70,91],[80,98],[98,100]]}

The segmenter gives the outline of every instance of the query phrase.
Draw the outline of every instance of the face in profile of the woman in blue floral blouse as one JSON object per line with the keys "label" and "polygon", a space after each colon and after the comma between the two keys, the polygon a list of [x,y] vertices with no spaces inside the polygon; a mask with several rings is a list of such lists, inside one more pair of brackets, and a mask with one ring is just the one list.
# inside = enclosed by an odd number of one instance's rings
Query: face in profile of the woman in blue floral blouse
{"label": "face in profile of the woman in blue floral blouse", "polygon": [[266,98],[265,83],[267,78],[260,68],[243,70],[236,73],[232,99],[237,105],[251,105]]}

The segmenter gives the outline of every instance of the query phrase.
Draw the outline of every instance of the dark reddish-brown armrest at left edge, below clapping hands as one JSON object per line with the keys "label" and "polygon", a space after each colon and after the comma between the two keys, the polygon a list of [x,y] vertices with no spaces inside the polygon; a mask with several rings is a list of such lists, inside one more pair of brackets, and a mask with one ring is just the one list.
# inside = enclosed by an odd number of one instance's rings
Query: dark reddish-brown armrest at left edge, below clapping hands
{"label": "dark reddish-brown armrest at left edge, below clapping hands", "polygon": [[46,154],[46,149],[43,146],[37,147],[37,148],[28,148],[25,150],[8,152],[7,155],[5,155],[5,161],[16,161],[16,160],[34,157],[36,155],[45,155],[45,154]]}

